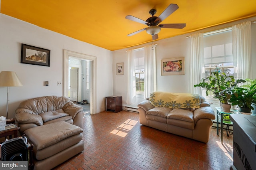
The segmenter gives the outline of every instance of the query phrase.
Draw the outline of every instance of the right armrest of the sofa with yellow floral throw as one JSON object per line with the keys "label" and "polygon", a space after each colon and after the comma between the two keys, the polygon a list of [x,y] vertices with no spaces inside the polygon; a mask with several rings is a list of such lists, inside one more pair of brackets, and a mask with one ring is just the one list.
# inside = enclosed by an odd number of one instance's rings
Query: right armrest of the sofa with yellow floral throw
{"label": "right armrest of the sofa with yellow floral throw", "polygon": [[200,107],[194,111],[194,123],[199,119],[215,119],[214,110],[211,107]]}

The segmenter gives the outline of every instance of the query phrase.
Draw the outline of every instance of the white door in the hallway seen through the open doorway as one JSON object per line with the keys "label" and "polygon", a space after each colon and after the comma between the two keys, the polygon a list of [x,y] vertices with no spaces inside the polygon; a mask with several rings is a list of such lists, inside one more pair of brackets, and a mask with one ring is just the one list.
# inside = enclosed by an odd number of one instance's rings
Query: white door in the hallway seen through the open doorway
{"label": "white door in the hallway seen through the open doorway", "polygon": [[70,100],[78,101],[78,73],[79,68],[70,69]]}

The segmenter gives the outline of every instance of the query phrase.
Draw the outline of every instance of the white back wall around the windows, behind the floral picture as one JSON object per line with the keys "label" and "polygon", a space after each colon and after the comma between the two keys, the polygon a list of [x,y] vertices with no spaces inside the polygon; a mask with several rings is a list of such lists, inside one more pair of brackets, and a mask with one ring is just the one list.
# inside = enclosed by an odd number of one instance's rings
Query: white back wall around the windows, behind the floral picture
{"label": "white back wall around the windows, behind the floral picture", "polygon": [[[210,32],[231,27],[232,25],[246,22],[248,20],[256,20],[256,17],[237,22],[224,24],[198,32]],[[171,31],[171,29],[170,29]],[[173,93],[190,93],[190,38],[186,38],[191,34],[184,34],[164,40],[155,41],[156,46],[156,65],[157,65],[157,91],[167,91]],[[135,35],[136,36],[136,35]],[[148,35],[150,36],[150,35]],[[158,36],[161,36],[161,32]],[[148,43],[150,44],[150,43]],[[144,44],[146,45],[146,44]],[[123,104],[126,105],[126,89],[127,89],[127,56],[126,50],[143,47],[138,45],[127,49],[113,51],[113,94],[123,97]],[[256,79],[256,24],[252,24],[252,78]],[[161,75],[161,59],[173,57],[185,57],[185,75]],[[124,75],[116,75],[116,63],[124,62]]]}

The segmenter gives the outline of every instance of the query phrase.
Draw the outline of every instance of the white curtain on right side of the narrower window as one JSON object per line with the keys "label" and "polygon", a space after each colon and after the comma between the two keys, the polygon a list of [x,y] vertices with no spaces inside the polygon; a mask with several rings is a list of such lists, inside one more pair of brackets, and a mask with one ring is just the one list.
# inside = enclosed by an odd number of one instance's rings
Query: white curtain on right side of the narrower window
{"label": "white curtain on right side of the narrower window", "polygon": [[156,91],[156,45],[144,46],[144,98]]}

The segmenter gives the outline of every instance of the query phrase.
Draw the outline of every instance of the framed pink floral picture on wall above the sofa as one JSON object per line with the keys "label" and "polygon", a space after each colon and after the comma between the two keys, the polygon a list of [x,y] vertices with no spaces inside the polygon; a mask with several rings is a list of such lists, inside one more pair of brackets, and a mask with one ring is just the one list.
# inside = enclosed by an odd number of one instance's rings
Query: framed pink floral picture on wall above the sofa
{"label": "framed pink floral picture on wall above the sofa", "polygon": [[184,57],[162,59],[161,75],[185,75]]}

